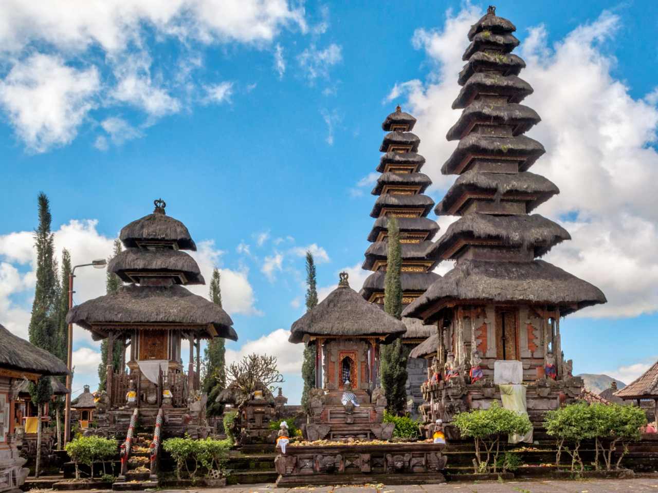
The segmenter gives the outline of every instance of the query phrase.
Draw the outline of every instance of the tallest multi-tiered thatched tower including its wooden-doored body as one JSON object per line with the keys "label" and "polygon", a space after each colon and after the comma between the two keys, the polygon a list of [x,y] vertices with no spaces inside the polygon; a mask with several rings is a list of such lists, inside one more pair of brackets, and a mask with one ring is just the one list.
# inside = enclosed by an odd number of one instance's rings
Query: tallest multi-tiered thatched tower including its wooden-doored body
{"label": "tallest multi-tiered thatched tower including its wooden-doored body", "polygon": [[606,299],[594,285],[536,260],[570,235],[530,214],[559,189],[528,171],[545,151],[524,135],[540,117],[520,104],[532,87],[519,78],[524,61],[511,54],[519,45],[515,29],[489,7],[468,32],[462,88],[452,105],[463,112],[447,133],[459,142],[442,167],[457,179],[435,209],[461,217],[426,250],[455,267],[403,314],[437,324],[440,368],[448,354],[466,369],[481,358],[484,376],[493,377],[494,362],[518,360],[524,381],[545,370],[553,382],[577,387],[563,358],[559,320]]}

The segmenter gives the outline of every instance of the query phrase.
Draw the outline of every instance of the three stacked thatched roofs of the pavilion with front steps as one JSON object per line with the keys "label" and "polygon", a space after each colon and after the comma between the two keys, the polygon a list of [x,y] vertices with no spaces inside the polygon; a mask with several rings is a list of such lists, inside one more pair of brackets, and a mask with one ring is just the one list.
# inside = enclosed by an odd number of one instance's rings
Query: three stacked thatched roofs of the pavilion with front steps
{"label": "three stacked thatched roofs of the pavilion with front steps", "polygon": [[155,200],[152,214],[121,230],[126,249],[107,270],[129,284],[75,306],[66,321],[88,329],[95,339],[107,335],[105,326],[172,324],[188,327],[199,337],[238,340],[231,317],[220,306],[184,287],[205,281],[197,262],[182,251],[197,249],[188,228],[167,216],[165,206],[163,200]]}

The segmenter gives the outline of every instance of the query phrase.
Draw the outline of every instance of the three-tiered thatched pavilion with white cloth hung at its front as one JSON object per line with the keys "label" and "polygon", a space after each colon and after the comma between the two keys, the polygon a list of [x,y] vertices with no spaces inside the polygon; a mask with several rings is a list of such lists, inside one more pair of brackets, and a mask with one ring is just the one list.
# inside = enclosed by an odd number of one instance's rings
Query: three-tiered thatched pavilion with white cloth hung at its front
{"label": "three-tiered thatched pavilion with white cloth hung at its front", "polygon": [[[163,408],[165,433],[196,436],[205,427],[200,341],[238,340],[228,314],[186,288],[205,283],[184,251],[197,247],[188,228],[166,215],[165,206],[155,200],[152,214],[121,229],[125,249],[107,266],[125,283],[118,292],[75,306],[67,316],[93,339],[108,340],[107,394],[101,406],[107,409],[103,427],[109,432],[126,431],[134,408],[146,425]],[[184,339],[190,347],[187,373],[181,357]],[[117,341],[130,348],[130,358],[115,372],[111,358]]]}

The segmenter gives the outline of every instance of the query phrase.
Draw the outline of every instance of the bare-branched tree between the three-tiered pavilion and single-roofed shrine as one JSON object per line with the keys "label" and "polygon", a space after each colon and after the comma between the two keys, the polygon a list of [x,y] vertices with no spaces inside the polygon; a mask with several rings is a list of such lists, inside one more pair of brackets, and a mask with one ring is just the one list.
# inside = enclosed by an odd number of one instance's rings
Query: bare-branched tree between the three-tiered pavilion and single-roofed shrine
{"label": "bare-branched tree between the three-tiered pavilion and single-roofed shrine", "polygon": [[274,384],[284,381],[284,376],[276,367],[276,356],[249,354],[240,362],[226,368],[226,383],[242,398],[247,398],[254,390],[268,388],[274,392]]}

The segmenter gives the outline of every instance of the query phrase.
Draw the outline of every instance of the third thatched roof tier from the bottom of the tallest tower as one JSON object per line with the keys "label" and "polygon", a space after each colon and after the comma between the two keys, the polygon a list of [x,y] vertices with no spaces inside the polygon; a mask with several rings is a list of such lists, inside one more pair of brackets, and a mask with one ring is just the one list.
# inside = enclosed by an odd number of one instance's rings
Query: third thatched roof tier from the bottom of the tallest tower
{"label": "third thatched roof tier from the bottom of the tallest tower", "polygon": [[527,200],[526,211],[530,212],[539,204],[560,193],[557,185],[549,179],[530,172],[521,172],[518,174],[503,173],[480,173],[475,170],[468,170],[460,175],[455,183],[443,196],[443,200],[436,204],[434,212],[437,216],[449,214],[449,211],[457,200],[461,199],[467,191],[474,192],[494,192],[497,199],[503,197],[505,193],[530,193],[536,196],[536,199]]}

